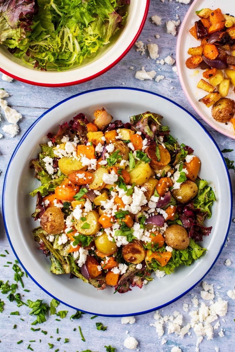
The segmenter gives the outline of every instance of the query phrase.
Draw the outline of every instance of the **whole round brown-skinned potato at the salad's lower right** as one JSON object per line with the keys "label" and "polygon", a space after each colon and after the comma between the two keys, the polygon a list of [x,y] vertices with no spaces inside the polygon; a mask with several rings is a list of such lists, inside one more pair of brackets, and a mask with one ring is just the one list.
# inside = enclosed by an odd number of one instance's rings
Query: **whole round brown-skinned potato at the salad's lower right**
{"label": "whole round brown-skinned potato at the salad's lower right", "polygon": [[168,226],[164,235],[166,244],[174,249],[183,250],[189,245],[188,233],[181,225]]}

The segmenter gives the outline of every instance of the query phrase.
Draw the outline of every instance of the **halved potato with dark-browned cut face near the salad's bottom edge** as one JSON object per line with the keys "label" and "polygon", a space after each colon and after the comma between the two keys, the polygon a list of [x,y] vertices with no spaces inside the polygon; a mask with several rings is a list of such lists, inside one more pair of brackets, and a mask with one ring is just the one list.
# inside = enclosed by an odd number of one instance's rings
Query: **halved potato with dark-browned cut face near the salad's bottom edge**
{"label": "halved potato with dark-browned cut face near the salad's bottom edge", "polygon": [[139,240],[133,240],[122,247],[122,255],[126,262],[139,264],[146,257],[146,250]]}

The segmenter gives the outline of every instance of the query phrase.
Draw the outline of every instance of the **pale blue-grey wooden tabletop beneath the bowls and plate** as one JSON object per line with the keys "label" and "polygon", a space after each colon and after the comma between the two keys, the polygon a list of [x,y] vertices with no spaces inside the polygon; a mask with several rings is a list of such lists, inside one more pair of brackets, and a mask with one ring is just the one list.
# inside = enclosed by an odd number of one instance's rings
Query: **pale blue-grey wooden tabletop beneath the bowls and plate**
{"label": "pale blue-grey wooden tabletop beneath the bowls and plate", "polygon": [[[141,1],[141,0],[140,0]],[[161,2],[160,0],[151,0],[150,9],[146,24],[140,35],[139,40],[143,43],[148,44],[157,43],[159,45],[159,59],[164,59],[166,56],[172,54],[175,58],[175,46],[177,36],[166,33],[166,21],[167,20],[177,20],[177,14],[179,15],[180,21],[183,20],[190,5],[185,5],[173,1],[165,0]],[[156,26],[151,21],[151,16],[159,15],[162,18],[162,25]],[[155,34],[159,34],[160,38],[155,38]],[[134,69],[130,69],[130,67]],[[153,81],[140,81],[135,78],[135,72],[141,70],[144,66],[147,71],[155,70],[159,75],[164,75],[165,79],[160,82]],[[188,111],[190,111],[196,118],[202,122],[205,128],[211,133],[211,135],[216,140],[219,148],[222,150],[224,148],[235,149],[235,141],[219,134],[214,131],[202,121],[199,116],[193,111],[192,107],[187,102],[183,90],[181,89],[180,82],[177,74],[172,70],[170,65],[160,65],[156,64],[154,60],[148,58],[148,52],[141,55],[140,52],[136,52],[135,46],[130,50],[130,52],[120,61],[114,68],[112,68],[107,73],[102,76],[95,78],[93,81],[83,83],[77,86],[64,87],[64,88],[43,88],[30,86],[25,83],[13,81],[12,83],[7,83],[0,81],[0,88],[4,88],[11,94],[8,98],[8,105],[16,108],[22,115],[23,119],[20,121],[20,132],[14,138],[8,138],[4,135],[4,138],[0,140],[0,187],[2,190],[2,185],[4,181],[4,174],[8,164],[8,161],[12,155],[14,148],[19,142],[20,138],[23,136],[27,128],[38,118],[44,111],[50,108],[52,105],[56,104],[60,100],[69,97],[70,95],[98,87],[109,87],[109,86],[129,86],[141,89],[147,89],[159,94],[166,96],[177,102]],[[0,125],[4,125],[4,120],[2,120]],[[235,151],[228,153],[231,160],[235,160]],[[231,182],[234,188],[235,184],[235,174],[233,170],[230,170]],[[9,254],[5,257],[0,257],[0,268],[1,275],[0,280],[4,282],[9,280],[9,283],[13,283],[14,272],[11,269],[12,264],[7,264],[7,262],[14,263],[16,259],[8,243],[2,216],[1,216],[1,232],[0,232],[0,253],[6,254],[5,250]],[[223,219],[221,219],[223,221]],[[212,322],[212,326],[219,321],[220,326],[214,329],[214,339],[207,340],[204,337],[203,341],[199,345],[200,351],[212,352],[212,351],[234,351],[234,328],[235,328],[235,300],[228,297],[227,292],[234,289],[235,280],[235,239],[234,239],[235,223],[231,222],[230,232],[228,235],[228,241],[225,245],[220,257],[218,258],[216,264],[205,277],[205,281],[209,284],[214,285],[215,299],[221,297],[222,300],[228,302],[228,312],[225,316],[219,317],[216,321]],[[230,259],[231,265],[225,265],[225,260]],[[6,266],[9,265],[9,266]],[[23,277],[25,288],[30,290],[29,292],[19,289],[24,297],[23,300],[26,301],[30,299],[36,301],[37,299],[44,300],[48,304],[51,301],[51,297],[48,296],[44,291],[37,287],[37,285],[31,281],[30,278]],[[204,301],[200,296],[200,291],[203,290],[202,283],[199,283],[194,287],[189,293],[180,298],[178,301],[170,304],[169,306],[160,310],[162,316],[173,315],[175,311],[180,312],[183,315],[182,326],[185,326],[190,322],[189,312],[193,309],[198,309],[193,307],[192,298],[197,295],[199,300],[199,306],[201,302],[209,305],[209,301]],[[197,336],[193,329],[190,329],[190,334],[186,334],[182,339],[179,335],[175,333],[168,333],[168,323],[164,323],[163,328],[165,330],[164,335],[159,339],[156,333],[156,328],[150,326],[150,324],[155,323],[154,312],[145,315],[136,316],[136,322],[134,324],[122,324],[121,318],[107,318],[107,317],[97,317],[91,320],[89,314],[84,314],[79,320],[70,321],[69,317],[74,314],[74,310],[67,308],[60,304],[57,310],[68,310],[67,317],[57,321],[55,319],[59,318],[55,315],[47,315],[47,321],[41,325],[33,326],[33,328],[41,328],[40,331],[33,332],[31,330],[31,322],[34,320],[33,316],[29,315],[29,308],[25,306],[17,307],[17,303],[10,302],[7,299],[7,295],[0,294],[1,300],[5,302],[4,310],[0,313],[0,351],[106,351],[104,346],[111,345],[116,347],[116,352],[122,350],[128,351],[124,346],[124,340],[129,335],[135,337],[138,341],[137,350],[142,352],[147,351],[158,351],[158,352],[170,352],[174,346],[179,346],[183,352],[196,351]],[[146,297],[148,299],[148,297]],[[183,304],[188,304],[184,306]],[[78,303],[79,306],[79,303]],[[199,307],[198,306],[198,307]],[[188,311],[187,311],[188,309]],[[11,315],[11,312],[19,311],[19,316]],[[106,331],[98,331],[96,329],[95,322],[102,322],[104,326],[107,326]],[[14,328],[14,325],[15,328]],[[84,335],[85,341],[81,340],[78,326],[81,327],[81,331]],[[58,333],[57,333],[58,328]],[[43,334],[43,331],[47,331],[47,334]],[[224,336],[222,336],[224,335]],[[58,338],[61,338],[57,341]],[[65,342],[65,338],[69,339],[69,342]],[[164,339],[164,340],[162,340]],[[17,341],[23,340],[21,344],[17,344]],[[35,342],[30,342],[35,340]],[[164,344],[162,344],[165,342]],[[49,344],[53,344],[50,348]],[[30,346],[29,346],[30,345]],[[177,349],[173,349],[172,352],[177,352]]]}

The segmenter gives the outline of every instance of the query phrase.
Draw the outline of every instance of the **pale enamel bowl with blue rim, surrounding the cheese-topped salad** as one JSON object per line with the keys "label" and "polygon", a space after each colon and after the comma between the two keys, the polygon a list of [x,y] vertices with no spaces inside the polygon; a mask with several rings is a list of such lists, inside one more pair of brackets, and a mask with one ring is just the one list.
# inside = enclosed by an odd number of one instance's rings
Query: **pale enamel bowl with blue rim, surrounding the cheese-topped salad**
{"label": "pale enamel bowl with blue rim, surrounding the cheese-topped salad", "polygon": [[[79,109],[78,109],[79,106]],[[134,114],[151,111],[163,116],[164,125],[178,139],[189,145],[201,160],[199,176],[207,180],[215,192],[212,217],[205,226],[212,226],[202,246],[207,251],[190,266],[180,266],[171,275],[132,288],[125,294],[113,294],[113,288],[97,290],[69,275],[50,273],[50,260],[45,258],[33,240],[31,218],[36,199],[29,193],[38,187],[30,163],[46,143],[48,132],[56,133],[58,125],[78,113],[91,120],[96,109],[104,107],[114,120],[129,122]],[[29,148],[30,146],[30,148]],[[10,195],[10,196],[9,196]],[[231,184],[218,146],[204,127],[185,109],[154,93],[132,88],[103,88],[74,95],[39,117],[20,140],[14,151],[4,181],[3,209],[8,240],[21,265],[33,281],[49,295],[70,307],[97,315],[124,316],[143,314],[165,306],[192,289],[212,268],[227,238],[231,221]],[[221,221],[223,219],[223,221]],[[155,276],[155,275],[154,275]],[[146,299],[148,297],[148,299]]]}

